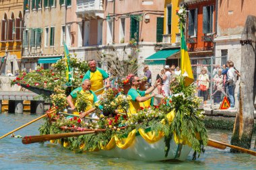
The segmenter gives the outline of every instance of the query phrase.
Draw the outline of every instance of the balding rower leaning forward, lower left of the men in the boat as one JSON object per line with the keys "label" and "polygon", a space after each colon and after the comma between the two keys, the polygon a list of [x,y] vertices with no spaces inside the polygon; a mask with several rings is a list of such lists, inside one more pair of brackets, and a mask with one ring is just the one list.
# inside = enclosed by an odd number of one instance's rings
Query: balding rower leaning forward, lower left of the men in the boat
{"label": "balding rower leaning forward, lower left of the men in the boat", "polygon": [[[87,116],[88,114],[94,112],[96,110],[96,108],[93,108],[92,105],[93,103],[96,103],[96,101],[98,101],[98,98],[96,96],[96,94],[90,90],[91,88],[91,81],[88,79],[85,79],[82,83],[82,87],[77,87],[76,89],[74,89],[69,96],[67,96],[67,103],[69,103],[69,106],[71,108],[71,110],[75,110],[75,105],[73,104],[73,99],[77,98],[77,92],[79,93],[88,93],[88,99],[89,99],[89,105],[88,108],[86,108],[86,110],[84,112],[82,112],[82,114],[80,114],[80,118],[84,118],[85,116]],[[92,117],[96,117],[96,116],[92,116]]]}

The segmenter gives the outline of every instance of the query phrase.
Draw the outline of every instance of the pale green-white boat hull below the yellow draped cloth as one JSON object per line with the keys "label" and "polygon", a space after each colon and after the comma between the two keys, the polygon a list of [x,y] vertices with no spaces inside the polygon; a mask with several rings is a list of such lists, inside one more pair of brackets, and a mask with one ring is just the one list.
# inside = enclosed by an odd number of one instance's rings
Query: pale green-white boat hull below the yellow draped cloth
{"label": "pale green-white boat hull below the yellow draped cloth", "polygon": [[177,159],[185,161],[191,152],[191,147],[182,144],[176,144],[174,140],[170,140],[170,151],[168,156],[164,154],[164,137],[154,143],[148,143],[140,135],[136,136],[129,148],[122,149],[117,146],[109,151],[94,151],[92,154],[102,155],[106,157],[119,157],[124,159],[136,159],[141,161],[164,161]]}

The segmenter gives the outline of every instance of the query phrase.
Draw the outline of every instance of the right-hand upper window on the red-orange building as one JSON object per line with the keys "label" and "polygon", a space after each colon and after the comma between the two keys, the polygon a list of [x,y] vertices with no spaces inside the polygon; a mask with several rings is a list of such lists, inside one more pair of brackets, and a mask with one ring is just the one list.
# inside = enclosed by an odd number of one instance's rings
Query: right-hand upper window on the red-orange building
{"label": "right-hand upper window on the red-orange building", "polygon": [[212,33],[214,25],[214,5],[203,7],[203,34]]}

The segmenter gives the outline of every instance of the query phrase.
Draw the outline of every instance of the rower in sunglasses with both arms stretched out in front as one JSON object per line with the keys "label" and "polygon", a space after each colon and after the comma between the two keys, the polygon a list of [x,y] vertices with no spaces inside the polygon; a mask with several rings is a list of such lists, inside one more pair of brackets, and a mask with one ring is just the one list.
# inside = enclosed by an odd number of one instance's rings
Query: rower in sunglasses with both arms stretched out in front
{"label": "rower in sunglasses with both arms stretched out in front", "polygon": [[[135,77],[131,77],[130,79],[130,83],[131,83],[131,89],[129,89],[128,94],[131,97],[131,101],[129,101],[129,114],[135,114],[137,112],[137,110],[140,109],[140,102],[146,101],[148,99],[151,99],[151,97],[153,97],[155,95],[155,93],[152,93],[152,91],[154,91],[154,89],[156,89],[156,87],[158,85],[160,85],[160,79],[158,79],[156,81],[156,83],[154,84],[154,86],[150,87],[149,89],[147,89],[146,91],[140,91],[139,88],[139,77],[135,76]],[[151,93],[151,94],[150,94]],[[148,96],[145,96],[147,94],[150,94]]]}

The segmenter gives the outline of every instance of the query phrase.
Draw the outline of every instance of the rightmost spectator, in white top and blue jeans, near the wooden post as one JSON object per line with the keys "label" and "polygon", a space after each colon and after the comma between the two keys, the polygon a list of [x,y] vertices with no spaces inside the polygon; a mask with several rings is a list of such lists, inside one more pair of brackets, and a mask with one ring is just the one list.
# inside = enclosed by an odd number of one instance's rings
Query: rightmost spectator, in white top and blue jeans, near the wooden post
{"label": "rightmost spectator, in white top and blue jeans, near the wooden post", "polygon": [[228,98],[230,99],[230,108],[228,110],[234,109],[234,89],[236,88],[237,74],[234,69],[234,62],[229,62],[229,69],[227,72],[227,87],[228,87]]}

